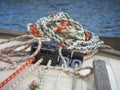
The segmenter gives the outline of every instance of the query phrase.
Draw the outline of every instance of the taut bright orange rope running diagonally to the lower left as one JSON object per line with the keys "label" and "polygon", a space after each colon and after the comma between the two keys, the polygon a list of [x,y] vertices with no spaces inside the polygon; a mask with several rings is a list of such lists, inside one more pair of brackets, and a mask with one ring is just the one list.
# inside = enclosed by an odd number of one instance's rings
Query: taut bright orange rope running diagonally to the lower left
{"label": "taut bright orange rope running diagonally to the lower left", "polygon": [[9,77],[7,77],[3,82],[0,83],[0,88],[7,84],[11,79],[13,79],[18,73],[20,73],[25,67],[30,65],[35,60],[35,57],[29,59],[24,65],[18,68],[14,73],[12,73]]}

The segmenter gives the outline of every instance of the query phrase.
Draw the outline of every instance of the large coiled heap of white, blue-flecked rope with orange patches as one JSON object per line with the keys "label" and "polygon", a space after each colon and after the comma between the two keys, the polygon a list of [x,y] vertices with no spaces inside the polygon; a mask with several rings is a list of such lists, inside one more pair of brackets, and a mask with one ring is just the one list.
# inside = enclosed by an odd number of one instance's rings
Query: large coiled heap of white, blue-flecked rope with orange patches
{"label": "large coiled heap of white, blue-flecked rope with orange patches", "polygon": [[[32,26],[36,26],[35,29]],[[37,31],[42,36],[47,35],[68,49],[76,49],[84,54],[92,53],[92,50],[98,45],[104,45],[104,42],[98,36],[84,29],[82,25],[71,19],[64,12],[43,17],[33,25],[31,23],[28,24],[27,28],[31,33]],[[34,35],[37,35],[37,33],[34,33]]]}

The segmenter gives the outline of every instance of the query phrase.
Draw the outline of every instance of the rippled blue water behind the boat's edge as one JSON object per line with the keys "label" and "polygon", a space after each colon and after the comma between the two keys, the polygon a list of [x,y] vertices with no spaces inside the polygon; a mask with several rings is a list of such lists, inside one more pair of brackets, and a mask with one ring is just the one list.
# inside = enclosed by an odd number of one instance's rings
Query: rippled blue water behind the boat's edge
{"label": "rippled blue water behind the boat's edge", "polygon": [[26,31],[27,23],[61,11],[99,36],[120,37],[120,0],[0,0],[0,28]]}

